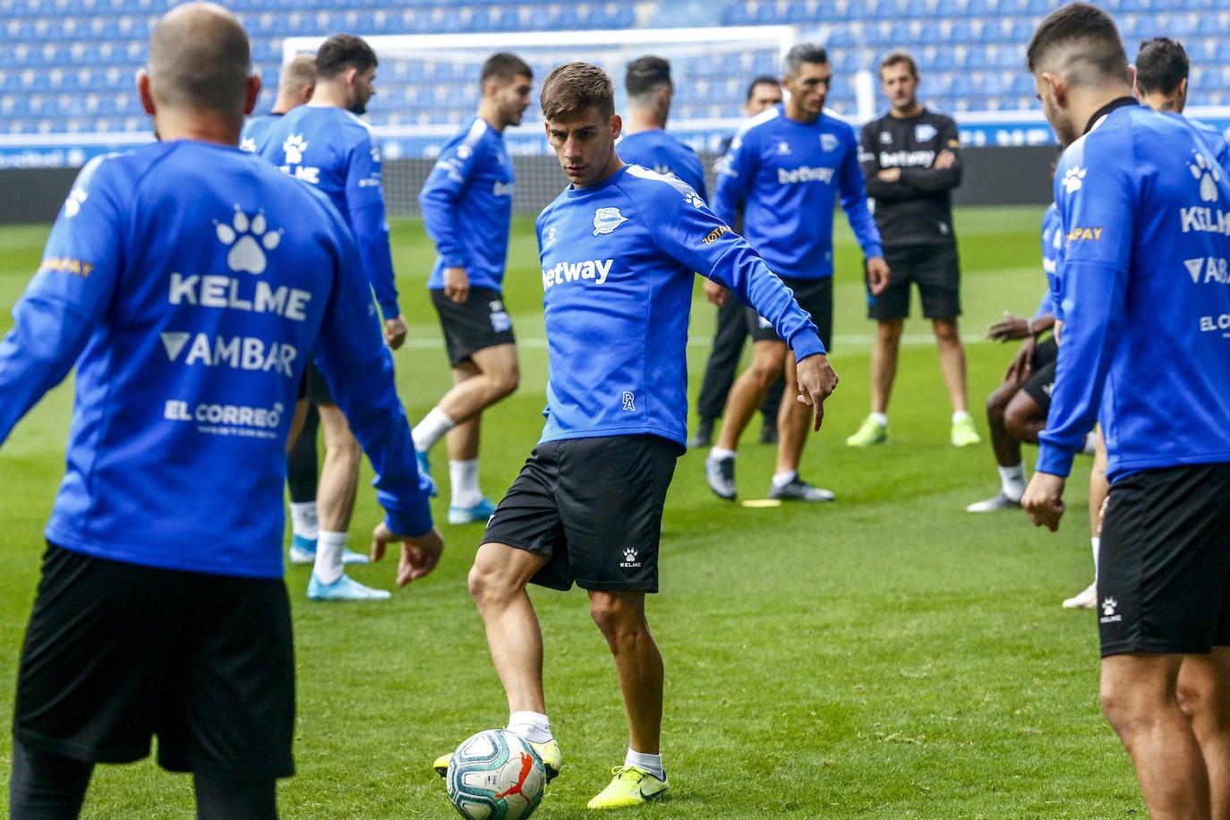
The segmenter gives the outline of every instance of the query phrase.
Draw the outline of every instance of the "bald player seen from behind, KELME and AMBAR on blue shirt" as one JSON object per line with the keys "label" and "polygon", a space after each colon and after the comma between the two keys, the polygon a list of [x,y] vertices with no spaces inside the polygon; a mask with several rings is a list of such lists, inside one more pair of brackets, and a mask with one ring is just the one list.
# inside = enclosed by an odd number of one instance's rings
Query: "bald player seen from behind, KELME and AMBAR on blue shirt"
{"label": "bald player seen from behind, KELME and AMBAR on blue shirt", "polygon": [[323,195],[239,150],[248,66],[229,11],[162,17],[138,76],[161,141],[82,170],[0,341],[0,441],[76,365],[12,818],[77,816],[95,763],[143,759],[154,735],[165,768],[193,773],[198,818],[277,816],[295,708],[271,510],[312,350],[379,476],[373,554],[403,540],[399,583],[439,558],[354,240]]}

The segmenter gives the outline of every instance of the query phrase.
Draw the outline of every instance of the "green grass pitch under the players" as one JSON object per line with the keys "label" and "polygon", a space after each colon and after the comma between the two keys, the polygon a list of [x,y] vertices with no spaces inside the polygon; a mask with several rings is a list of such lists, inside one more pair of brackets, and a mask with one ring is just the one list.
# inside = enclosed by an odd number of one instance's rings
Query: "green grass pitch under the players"
{"label": "green grass pitch under the players", "polygon": [[[1030,313],[1037,305],[1041,215],[1039,208],[988,208],[957,218],[970,406],[984,436],[983,402],[1012,348],[980,336],[1001,311]],[[704,454],[680,459],[664,521],[662,594],[649,601],[667,665],[663,739],[673,797],[646,806],[643,816],[1143,816],[1128,757],[1097,704],[1093,616],[1059,607],[1091,577],[1087,460],[1077,461],[1058,535],[1020,513],[966,514],[966,504],[996,491],[995,465],[986,445],[947,444],[951,408],[916,304],[891,406],[893,440],[871,451],[847,449],[845,436],[867,412],[873,326],[865,318],[857,248],[843,223],[839,215],[831,357],[841,384],[803,462],[803,476],[838,500],[734,507],[705,486]],[[38,264],[47,230],[0,231],[0,331],[11,325],[9,307]],[[422,224],[395,223],[392,243],[411,325],[408,347],[396,354],[399,384],[417,420],[448,386],[448,363],[423,293],[433,257]],[[542,423],[546,352],[528,218],[517,223],[510,261],[507,298],[523,380],[486,414],[482,483],[493,498]],[[694,397],[713,312],[697,283]],[[0,450],[5,735],[69,409],[69,390],[54,391]],[[754,429],[748,439],[740,491],[763,497],[772,449],[755,444]],[[1026,457],[1032,463],[1033,452]],[[435,461],[444,460],[440,449]],[[352,531],[360,550],[380,516],[363,487]],[[446,503],[444,487],[434,502],[442,519]],[[309,604],[309,568],[288,569],[299,775],[279,786],[284,816],[448,818],[453,810],[430,761],[469,734],[504,724],[503,692],[466,593],[482,529],[440,529],[448,547],[437,572],[390,602]],[[184,532],[183,548],[209,545]],[[391,586],[392,570],[352,568],[381,586]],[[538,816],[590,816],[585,802],[622,762],[627,743],[614,665],[583,594],[536,590],[534,600],[546,641],[549,712],[565,755],[563,775]],[[5,736],[5,781],[10,762]],[[183,818],[191,802],[187,777],[148,761],[103,766],[85,816]]]}

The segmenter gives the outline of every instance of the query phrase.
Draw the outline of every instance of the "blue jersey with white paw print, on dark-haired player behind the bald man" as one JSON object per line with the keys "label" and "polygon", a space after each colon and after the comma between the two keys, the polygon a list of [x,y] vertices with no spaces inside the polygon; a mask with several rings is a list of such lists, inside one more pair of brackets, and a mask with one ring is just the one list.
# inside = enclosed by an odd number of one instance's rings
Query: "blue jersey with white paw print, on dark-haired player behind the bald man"
{"label": "blue jersey with white paw print, on dark-haired player behind the bald man", "polygon": [[354,231],[385,318],[400,315],[371,127],[336,106],[298,106],[269,127],[261,156],[322,191]]}

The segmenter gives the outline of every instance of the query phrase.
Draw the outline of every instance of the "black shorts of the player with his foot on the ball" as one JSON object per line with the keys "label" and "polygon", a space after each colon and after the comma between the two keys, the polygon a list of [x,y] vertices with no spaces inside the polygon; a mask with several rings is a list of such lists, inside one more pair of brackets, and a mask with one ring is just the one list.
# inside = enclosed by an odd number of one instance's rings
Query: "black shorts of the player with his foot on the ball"
{"label": "black shorts of the player with his foot on the ball", "polygon": [[550,556],[531,579],[541,586],[657,593],[662,508],[679,455],[657,435],[539,444],[483,543]]}

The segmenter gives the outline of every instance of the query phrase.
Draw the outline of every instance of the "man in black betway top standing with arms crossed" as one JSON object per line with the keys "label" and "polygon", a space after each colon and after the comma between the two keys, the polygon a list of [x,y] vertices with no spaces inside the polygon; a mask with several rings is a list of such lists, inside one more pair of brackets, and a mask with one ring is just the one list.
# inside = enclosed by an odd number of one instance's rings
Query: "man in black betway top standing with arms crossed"
{"label": "man in black betway top standing with arms crossed", "polygon": [[910,283],[918,283],[922,315],[931,320],[940,369],[952,402],[953,446],[982,439],[969,414],[966,349],[961,344],[961,262],[952,230],[952,189],[961,184],[957,124],[927,111],[918,100],[914,58],[892,52],[879,63],[879,87],[891,108],[862,127],[859,165],[867,178],[876,225],[893,284],[868,294],[867,316],[877,322],[871,352],[871,416],[846,439],[852,447],[888,440],[888,398],[897,376],[902,326],[910,312]]}

